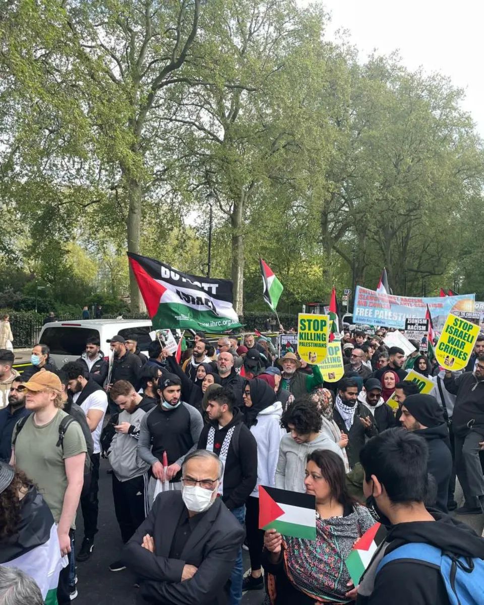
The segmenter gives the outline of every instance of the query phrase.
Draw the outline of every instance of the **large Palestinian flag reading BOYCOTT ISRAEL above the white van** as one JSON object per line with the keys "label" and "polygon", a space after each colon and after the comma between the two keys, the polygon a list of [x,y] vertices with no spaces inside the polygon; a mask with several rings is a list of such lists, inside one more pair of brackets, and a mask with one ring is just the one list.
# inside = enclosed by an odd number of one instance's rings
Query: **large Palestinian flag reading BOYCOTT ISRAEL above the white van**
{"label": "large Palestinian flag reading BOYCOTT ISRAEL above the white van", "polygon": [[232,282],[181,273],[154,258],[128,252],[129,264],[155,330],[226,332],[240,328]]}

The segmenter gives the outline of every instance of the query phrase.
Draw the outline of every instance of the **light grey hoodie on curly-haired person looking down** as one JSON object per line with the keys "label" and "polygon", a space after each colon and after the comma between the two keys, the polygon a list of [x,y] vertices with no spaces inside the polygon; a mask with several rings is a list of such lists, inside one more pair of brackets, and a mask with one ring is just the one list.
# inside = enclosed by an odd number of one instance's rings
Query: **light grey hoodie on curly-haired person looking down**
{"label": "light grey hoodie on curly-haired person looking down", "polygon": [[306,492],[304,487],[304,471],[306,470],[307,454],[314,450],[330,450],[338,454],[343,460],[341,448],[334,439],[329,439],[327,434],[319,433],[316,439],[309,443],[296,443],[286,433],[281,439],[279,447],[279,459],[276,467],[276,488],[289,489],[290,491]]}

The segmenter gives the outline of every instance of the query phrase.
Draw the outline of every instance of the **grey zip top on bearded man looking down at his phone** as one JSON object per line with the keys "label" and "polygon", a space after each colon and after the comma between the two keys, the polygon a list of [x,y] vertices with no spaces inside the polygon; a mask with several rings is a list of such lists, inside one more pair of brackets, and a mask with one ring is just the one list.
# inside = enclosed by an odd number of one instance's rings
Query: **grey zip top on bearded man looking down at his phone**
{"label": "grey zip top on bearded man looking down at his phone", "polygon": [[123,410],[118,416],[117,424],[129,422],[131,425],[129,433],[114,434],[108,451],[111,468],[120,482],[144,475],[149,469],[148,462],[144,462],[137,452],[140,424],[145,414],[145,410],[137,407],[132,414]]}

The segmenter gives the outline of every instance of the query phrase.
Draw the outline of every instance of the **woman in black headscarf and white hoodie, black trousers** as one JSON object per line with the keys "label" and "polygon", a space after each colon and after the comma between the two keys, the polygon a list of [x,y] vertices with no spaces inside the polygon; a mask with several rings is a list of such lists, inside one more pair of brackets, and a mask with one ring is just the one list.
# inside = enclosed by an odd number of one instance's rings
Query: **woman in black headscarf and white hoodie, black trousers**
{"label": "woman in black headscarf and white hoodie, black trousers", "polygon": [[274,388],[259,378],[246,381],[243,399],[244,424],[257,442],[257,483],[246,500],[250,574],[244,578],[242,585],[243,590],[253,590],[264,585],[261,572],[264,532],[259,529],[259,485],[275,485],[279,444],[284,434],[281,428],[283,405],[278,401]]}

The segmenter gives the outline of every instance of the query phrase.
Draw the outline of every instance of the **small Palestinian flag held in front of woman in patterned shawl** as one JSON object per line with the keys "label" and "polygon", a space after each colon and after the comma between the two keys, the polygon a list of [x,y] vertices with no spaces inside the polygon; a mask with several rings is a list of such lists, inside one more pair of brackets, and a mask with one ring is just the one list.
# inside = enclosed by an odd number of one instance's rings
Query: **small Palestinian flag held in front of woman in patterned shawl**
{"label": "small Palestinian flag held in front of woman in patterned shawl", "polygon": [[259,486],[259,529],[316,540],[316,498],[286,489]]}

